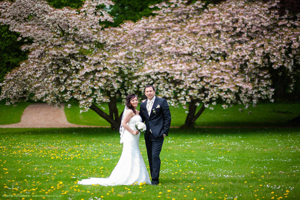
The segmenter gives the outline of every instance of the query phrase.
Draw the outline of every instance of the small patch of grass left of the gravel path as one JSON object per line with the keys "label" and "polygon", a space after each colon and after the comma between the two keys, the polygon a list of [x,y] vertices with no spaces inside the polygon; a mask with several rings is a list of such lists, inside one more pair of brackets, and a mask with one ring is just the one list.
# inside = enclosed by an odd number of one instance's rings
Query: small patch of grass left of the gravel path
{"label": "small patch of grass left of the gravel path", "polygon": [[30,104],[28,102],[20,102],[17,106],[7,106],[4,103],[0,103],[0,125],[20,122],[23,111]]}

